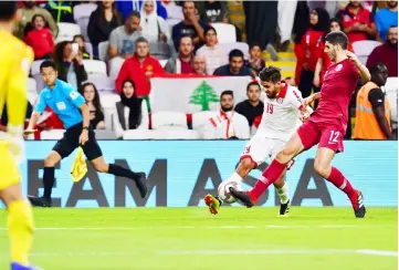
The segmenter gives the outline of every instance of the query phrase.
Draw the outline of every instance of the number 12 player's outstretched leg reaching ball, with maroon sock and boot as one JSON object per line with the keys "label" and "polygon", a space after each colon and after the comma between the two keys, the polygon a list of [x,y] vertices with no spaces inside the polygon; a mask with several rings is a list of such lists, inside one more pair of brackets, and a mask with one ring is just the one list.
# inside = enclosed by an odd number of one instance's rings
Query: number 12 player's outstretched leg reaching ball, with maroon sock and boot
{"label": "number 12 player's outstretched leg reaching ball, with maroon sock and boot", "polygon": [[277,154],[273,162],[262,173],[262,176],[258,179],[255,186],[251,190],[240,191],[231,187],[231,194],[246,207],[252,207],[267,187],[283,175],[286,170],[287,164],[303,149],[304,146],[300,135],[295,133],[285,145],[284,149]]}

